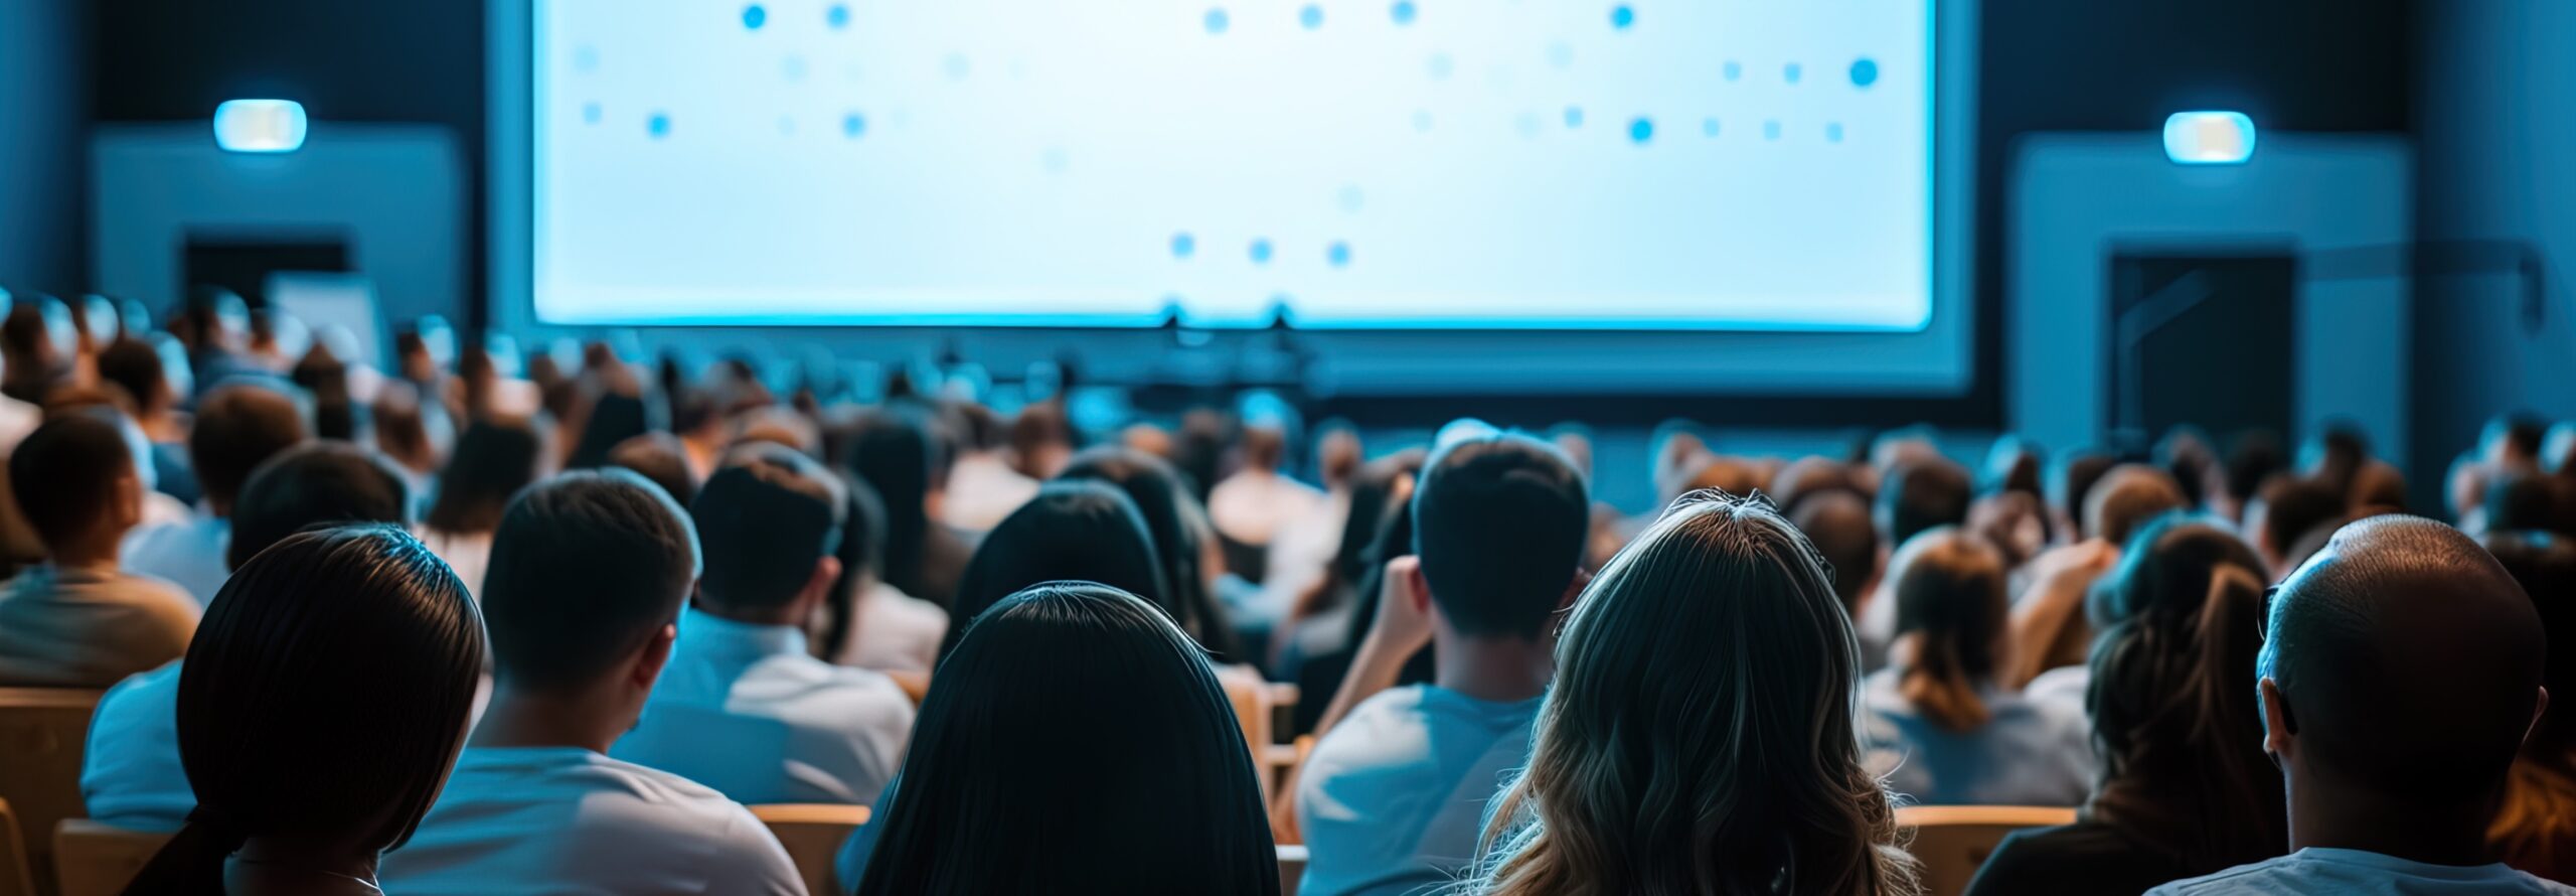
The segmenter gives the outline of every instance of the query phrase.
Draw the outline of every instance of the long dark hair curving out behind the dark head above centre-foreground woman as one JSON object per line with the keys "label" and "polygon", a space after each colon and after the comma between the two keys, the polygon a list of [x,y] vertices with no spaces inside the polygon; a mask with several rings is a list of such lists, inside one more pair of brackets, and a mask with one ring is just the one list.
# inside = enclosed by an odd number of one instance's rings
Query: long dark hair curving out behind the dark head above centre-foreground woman
{"label": "long dark hair curving out behind the dark head above centre-foreground woman", "polygon": [[1162,556],[1167,600],[1159,602],[1164,610],[1172,610],[1180,631],[1208,646],[1218,662],[1244,659],[1234,623],[1208,592],[1203,564],[1211,538],[1208,507],[1172,463],[1136,448],[1100,445],[1077,453],[1056,479],[1092,479],[1126,492],[1136,502],[1136,512],[1144,515],[1146,536],[1154,536],[1154,554]]}

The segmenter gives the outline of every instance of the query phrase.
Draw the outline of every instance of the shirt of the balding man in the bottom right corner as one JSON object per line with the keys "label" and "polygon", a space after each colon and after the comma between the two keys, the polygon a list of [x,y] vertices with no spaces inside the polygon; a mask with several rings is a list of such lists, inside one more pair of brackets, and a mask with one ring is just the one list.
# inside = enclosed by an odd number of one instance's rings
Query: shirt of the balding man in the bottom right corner
{"label": "shirt of the balding man in the bottom right corner", "polygon": [[2403,896],[2571,896],[2576,888],[2504,865],[2424,865],[2362,850],[2306,847],[2146,891],[2148,896],[2226,893],[2403,893]]}

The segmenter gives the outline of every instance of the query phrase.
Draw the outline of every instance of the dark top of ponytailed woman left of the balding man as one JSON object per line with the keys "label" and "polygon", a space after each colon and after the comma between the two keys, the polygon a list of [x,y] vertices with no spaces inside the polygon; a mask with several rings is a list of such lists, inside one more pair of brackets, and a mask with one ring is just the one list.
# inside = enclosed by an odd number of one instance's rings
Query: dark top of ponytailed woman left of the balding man
{"label": "dark top of ponytailed woman left of the balding man", "polygon": [[1968,896],[2138,896],[2215,870],[2221,868],[2184,868],[2182,860],[2087,819],[2012,832],[1986,857],[1986,868],[1976,870],[1976,881],[1968,881]]}

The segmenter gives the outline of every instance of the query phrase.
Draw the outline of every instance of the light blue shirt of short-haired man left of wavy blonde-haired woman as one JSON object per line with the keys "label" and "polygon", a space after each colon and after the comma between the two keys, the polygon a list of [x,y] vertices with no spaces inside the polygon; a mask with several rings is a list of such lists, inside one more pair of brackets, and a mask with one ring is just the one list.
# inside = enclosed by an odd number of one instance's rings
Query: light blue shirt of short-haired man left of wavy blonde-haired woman
{"label": "light blue shirt of short-haired man left of wavy blonde-haired woman", "polygon": [[1414,893],[1476,860],[1484,811],[1530,762],[1543,698],[1486,703],[1432,685],[1363,700],[1298,778],[1301,896]]}

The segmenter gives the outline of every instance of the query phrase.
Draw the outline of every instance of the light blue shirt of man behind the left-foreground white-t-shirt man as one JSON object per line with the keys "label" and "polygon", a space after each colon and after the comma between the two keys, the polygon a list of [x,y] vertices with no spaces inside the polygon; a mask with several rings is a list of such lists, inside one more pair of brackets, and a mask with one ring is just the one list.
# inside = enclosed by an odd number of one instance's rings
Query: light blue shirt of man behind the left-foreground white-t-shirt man
{"label": "light blue shirt of man behind the left-foreground white-t-shirt man", "polygon": [[912,698],[835,667],[793,626],[680,613],[680,639],[644,718],[608,749],[737,803],[873,803],[904,762]]}

